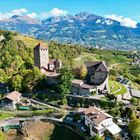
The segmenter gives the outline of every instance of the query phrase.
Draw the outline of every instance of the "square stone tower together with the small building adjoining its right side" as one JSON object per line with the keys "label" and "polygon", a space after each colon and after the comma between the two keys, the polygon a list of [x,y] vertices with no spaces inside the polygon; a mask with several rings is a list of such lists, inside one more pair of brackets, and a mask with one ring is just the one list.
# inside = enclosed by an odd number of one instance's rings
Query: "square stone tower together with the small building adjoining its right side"
{"label": "square stone tower together with the small building adjoining its right side", "polygon": [[39,43],[34,47],[34,64],[50,72],[55,72],[62,66],[59,59],[49,59],[49,48],[44,43]]}

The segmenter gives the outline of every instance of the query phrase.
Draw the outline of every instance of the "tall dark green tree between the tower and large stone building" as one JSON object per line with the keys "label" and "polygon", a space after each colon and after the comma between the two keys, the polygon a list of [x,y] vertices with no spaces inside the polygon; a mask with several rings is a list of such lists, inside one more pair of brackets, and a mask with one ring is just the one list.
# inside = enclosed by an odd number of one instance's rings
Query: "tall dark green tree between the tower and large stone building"
{"label": "tall dark green tree between the tower and large stone building", "polygon": [[67,67],[63,67],[59,70],[60,76],[58,77],[57,89],[62,95],[70,93],[71,80],[73,79],[73,74],[71,70]]}

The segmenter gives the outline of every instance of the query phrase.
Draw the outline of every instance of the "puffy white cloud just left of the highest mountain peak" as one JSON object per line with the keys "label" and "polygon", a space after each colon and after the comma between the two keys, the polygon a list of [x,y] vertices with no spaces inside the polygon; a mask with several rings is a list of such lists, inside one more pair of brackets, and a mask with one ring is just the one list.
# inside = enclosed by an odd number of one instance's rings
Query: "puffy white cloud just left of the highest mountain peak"
{"label": "puffy white cloud just left of the highest mountain peak", "polygon": [[54,9],[52,9],[49,12],[43,12],[43,13],[41,13],[41,18],[64,16],[67,13],[68,13],[67,10],[62,10],[62,9],[54,8]]}

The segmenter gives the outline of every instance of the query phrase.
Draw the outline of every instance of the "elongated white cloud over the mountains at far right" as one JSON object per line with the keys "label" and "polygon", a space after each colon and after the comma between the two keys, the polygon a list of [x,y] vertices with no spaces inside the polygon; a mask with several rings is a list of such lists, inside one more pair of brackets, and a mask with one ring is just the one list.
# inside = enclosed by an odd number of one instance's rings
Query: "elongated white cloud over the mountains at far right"
{"label": "elongated white cloud over the mountains at far right", "polygon": [[117,16],[115,14],[105,15],[106,18],[110,18],[120,22],[122,26],[130,27],[130,28],[137,28],[137,22],[131,18],[126,18],[123,16]]}

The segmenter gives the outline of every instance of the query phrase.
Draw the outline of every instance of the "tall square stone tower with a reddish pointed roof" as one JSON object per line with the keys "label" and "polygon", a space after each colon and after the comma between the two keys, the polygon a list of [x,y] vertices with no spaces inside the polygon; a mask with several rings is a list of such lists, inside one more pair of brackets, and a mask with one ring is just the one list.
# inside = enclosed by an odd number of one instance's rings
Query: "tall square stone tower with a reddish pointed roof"
{"label": "tall square stone tower with a reddish pointed roof", "polygon": [[39,43],[34,48],[34,64],[39,68],[48,69],[49,64],[49,51],[47,45]]}

